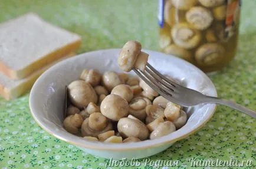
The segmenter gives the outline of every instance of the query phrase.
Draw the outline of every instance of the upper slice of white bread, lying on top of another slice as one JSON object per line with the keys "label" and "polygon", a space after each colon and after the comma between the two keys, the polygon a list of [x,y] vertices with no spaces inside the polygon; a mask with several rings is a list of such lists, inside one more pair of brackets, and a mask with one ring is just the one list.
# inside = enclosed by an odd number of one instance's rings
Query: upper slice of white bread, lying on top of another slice
{"label": "upper slice of white bread, lying on top of another slice", "polygon": [[81,36],[27,13],[0,23],[0,72],[23,79],[81,45]]}

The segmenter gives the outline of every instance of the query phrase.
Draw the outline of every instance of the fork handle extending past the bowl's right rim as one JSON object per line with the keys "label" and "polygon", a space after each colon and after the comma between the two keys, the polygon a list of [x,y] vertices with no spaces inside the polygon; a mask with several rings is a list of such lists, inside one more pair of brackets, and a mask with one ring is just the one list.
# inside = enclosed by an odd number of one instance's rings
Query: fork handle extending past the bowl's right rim
{"label": "fork handle extending past the bowl's right rim", "polygon": [[228,106],[228,107],[231,107],[233,109],[236,109],[238,111],[241,111],[251,117],[254,117],[254,119],[256,119],[256,112],[251,110],[251,109],[248,109],[247,107],[244,107],[240,104],[237,104],[235,102],[232,102],[230,100],[225,100],[225,99],[219,99],[218,97],[207,97],[207,99],[205,99],[205,101],[207,103],[218,103],[218,104],[222,104],[222,105],[225,105],[225,106]]}

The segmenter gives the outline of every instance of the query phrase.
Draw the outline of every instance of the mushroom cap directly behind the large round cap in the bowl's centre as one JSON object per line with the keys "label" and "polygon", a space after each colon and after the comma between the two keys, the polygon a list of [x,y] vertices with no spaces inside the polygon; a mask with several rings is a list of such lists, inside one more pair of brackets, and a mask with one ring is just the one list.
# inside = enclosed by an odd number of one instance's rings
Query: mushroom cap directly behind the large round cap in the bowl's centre
{"label": "mushroom cap directly behind the large round cap in the bowl's centre", "polygon": [[133,91],[128,85],[118,85],[114,87],[114,89],[111,91],[111,94],[121,96],[127,102],[130,102],[130,100],[133,98]]}

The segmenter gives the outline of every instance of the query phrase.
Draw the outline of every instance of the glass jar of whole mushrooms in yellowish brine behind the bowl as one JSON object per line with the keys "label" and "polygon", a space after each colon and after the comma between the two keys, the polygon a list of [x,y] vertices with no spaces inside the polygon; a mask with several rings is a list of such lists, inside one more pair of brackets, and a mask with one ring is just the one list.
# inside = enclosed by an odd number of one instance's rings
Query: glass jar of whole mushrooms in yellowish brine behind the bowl
{"label": "glass jar of whole mushrooms in yellowish brine behind the bowl", "polygon": [[204,72],[220,70],[238,45],[239,0],[159,0],[160,51]]}

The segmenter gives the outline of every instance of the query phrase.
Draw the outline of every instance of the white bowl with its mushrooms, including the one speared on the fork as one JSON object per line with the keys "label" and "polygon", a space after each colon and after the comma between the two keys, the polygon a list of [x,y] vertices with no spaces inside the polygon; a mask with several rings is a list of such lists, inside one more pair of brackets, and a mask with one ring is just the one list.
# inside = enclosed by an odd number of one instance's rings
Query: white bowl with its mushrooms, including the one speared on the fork
{"label": "white bowl with its mushrooms, including the one speared on the fork", "polygon": [[[31,114],[45,131],[94,156],[157,154],[200,129],[216,105],[169,102],[130,71],[131,65],[143,70],[145,62],[180,85],[216,97],[211,80],[191,63],[127,42],[122,49],[83,53],[52,66],[32,87]],[[65,86],[70,105],[64,116]]]}

